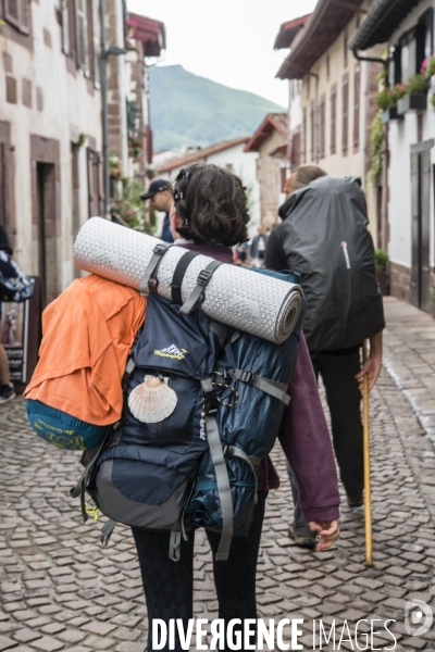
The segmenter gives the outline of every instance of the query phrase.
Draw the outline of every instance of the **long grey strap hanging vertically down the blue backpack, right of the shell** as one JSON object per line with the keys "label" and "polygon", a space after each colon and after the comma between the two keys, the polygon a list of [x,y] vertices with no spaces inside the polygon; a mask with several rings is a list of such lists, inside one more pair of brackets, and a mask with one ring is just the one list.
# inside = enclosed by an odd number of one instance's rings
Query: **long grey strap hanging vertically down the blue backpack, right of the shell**
{"label": "long grey strap hanging vertically down the blue backpack, right of the shell", "polygon": [[233,498],[231,493],[228,472],[226,469],[221,438],[219,436],[217,424],[216,419],[214,418],[214,415],[217,412],[217,406],[212,402],[212,398],[214,396],[212,379],[206,378],[204,380],[201,380],[201,387],[206,398],[204,416],[207,419],[207,440],[209,442],[210,454],[214,465],[214,472],[216,474],[217,492],[222,509],[222,535],[219,542],[215,561],[226,562],[233,539]]}

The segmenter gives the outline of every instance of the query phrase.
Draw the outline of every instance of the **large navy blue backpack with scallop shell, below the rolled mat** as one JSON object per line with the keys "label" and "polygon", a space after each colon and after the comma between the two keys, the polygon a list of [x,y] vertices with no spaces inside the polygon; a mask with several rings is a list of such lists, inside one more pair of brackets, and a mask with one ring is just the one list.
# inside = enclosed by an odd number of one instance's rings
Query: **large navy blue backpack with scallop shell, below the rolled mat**
{"label": "large navy blue backpack with scallop shell, below the rolled mat", "polygon": [[[293,274],[266,273],[297,283]],[[123,418],[97,454],[86,451],[88,466],[72,490],[73,496],[82,490],[85,519],[85,487],[110,517],[104,543],[117,522],[170,530],[170,556],[176,561],[182,536],[206,527],[222,532],[216,560],[227,559],[233,534],[249,531],[259,464],[274,446],[290,400],[286,390],[302,313],[291,336],[274,344],[195,308],[179,314],[179,305],[149,296],[124,378]],[[144,389],[149,409],[150,380],[162,404],[166,398],[176,402],[153,423],[141,421],[140,413]]]}

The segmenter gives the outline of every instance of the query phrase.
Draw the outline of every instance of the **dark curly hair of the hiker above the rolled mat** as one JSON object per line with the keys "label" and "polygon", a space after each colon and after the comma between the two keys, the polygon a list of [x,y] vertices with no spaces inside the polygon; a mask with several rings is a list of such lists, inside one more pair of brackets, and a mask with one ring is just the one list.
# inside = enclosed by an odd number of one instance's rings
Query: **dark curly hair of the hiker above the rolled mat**
{"label": "dark curly hair of the hiker above the rolled mat", "polygon": [[238,176],[227,170],[204,163],[188,165],[174,181],[173,197],[182,220],[176,230],[186,240],[233,247],[248,239],[248,198]]}

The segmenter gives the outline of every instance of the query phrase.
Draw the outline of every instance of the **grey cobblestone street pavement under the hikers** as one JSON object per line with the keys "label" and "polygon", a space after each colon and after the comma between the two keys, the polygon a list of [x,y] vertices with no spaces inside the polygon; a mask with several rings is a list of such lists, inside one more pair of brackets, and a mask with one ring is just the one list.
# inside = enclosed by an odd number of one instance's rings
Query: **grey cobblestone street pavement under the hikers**
{"label": "grey cobblestone street pavement under the hikers", "polygon": [[[386,365],[371,399],[374,568],[363,564],[361,509],[343,506],[333,551],[293,544],[290,491],[283,455],[274,451],[283,487],[268,501],[259,617],[303,618],[299,642],[306,649],[313,647],[313,619],[322,619],[326,631],[335,619],[338,644],[345,619],[355,636],[362,618],[378,618],[380,634],[369,648],[393,649],[383,622],[394,618],[396,650],[435,650],[435,626],[421,637],[409,637],[403,627],[406,601],[433,603],[435,592],[435,323],[393,299],[386,308]],[[0,425],[0,651],[144,652],[147,612],[129,530],[120,527],[109,548],[100,547],[99,524],[80,523],[67,496],[80,473],[76,455],[33,435],[22,399],[1,408]],[[211,554],[201,532],[195,589],[195,615],[216,617]],[[360,649],[368,630],[362,623]],[[355,638],[341,648],[358,649]]]}

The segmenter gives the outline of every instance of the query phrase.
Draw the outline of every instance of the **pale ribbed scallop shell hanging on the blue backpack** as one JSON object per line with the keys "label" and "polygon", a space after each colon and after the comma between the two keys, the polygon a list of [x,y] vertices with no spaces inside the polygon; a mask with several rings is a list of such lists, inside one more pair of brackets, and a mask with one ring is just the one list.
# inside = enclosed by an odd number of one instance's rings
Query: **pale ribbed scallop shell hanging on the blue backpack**
{"label": "pale ribbed scallop shell hanging on the blue backpack", "polygon": [[128,397],[128,408],[144,424],[158,424],[170,416],[178,398],[166,383],[157,376],[145,376],[144,383],[135,387]]}

